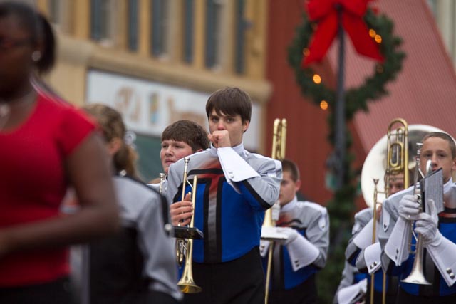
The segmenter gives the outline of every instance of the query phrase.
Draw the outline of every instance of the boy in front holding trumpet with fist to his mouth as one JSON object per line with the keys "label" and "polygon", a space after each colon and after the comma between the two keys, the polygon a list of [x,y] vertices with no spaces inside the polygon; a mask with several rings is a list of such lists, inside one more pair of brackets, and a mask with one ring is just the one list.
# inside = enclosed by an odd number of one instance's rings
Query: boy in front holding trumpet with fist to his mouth
{"label": "boy in front holding trumpet with fist to his mouth", "polygon": [[[242,143],[249,128],[252,101],[239,88],[223,88],[207,100],[209,150],[192,154],[188,178],[198,176],[193,275],[201,293],[185,294],[185,303],[264,303],[264,273],[259,239],[264,210],[279,198],[281,164],[247,152]],[[170,166],[168,201],[172,224],[187,225],[192,214],[182,193],[182,160]],[[188,188],[190,189],[190,187]],[[239,237],[241,236],[242,237]]]}

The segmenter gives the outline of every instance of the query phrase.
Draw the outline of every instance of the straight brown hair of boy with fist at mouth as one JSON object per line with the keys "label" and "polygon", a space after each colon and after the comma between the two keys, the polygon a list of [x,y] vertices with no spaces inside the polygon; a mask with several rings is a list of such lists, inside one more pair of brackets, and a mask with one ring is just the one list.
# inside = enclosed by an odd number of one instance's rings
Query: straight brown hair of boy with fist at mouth
{"label": "straight brown hair of boy with fist at mouth", "polygon": [[249,94],[239,88],[222,88],[216,90],[206,103],[207,118],[215,110],[217,115],[240,115],[242,122],[250,121],[252,116],[252,100]]}

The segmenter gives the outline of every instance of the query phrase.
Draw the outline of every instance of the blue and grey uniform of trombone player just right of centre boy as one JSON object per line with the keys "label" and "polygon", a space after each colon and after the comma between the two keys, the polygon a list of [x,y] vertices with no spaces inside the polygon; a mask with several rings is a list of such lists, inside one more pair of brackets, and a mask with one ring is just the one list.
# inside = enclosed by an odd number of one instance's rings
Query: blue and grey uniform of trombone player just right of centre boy
{"label": "blue and grey uniform of trombone player just right of centre boy", "polygon": [[[298,201],[296,196],[280,211],[277,227],[290,227],[298,232],[296,239],[274,246],[271,269],[271,303],[275,295],[280,303],[295,303],[296,298],[286,297],[286,290],[293,293],[313,293],[314,285],[306,285],[314,274],[325,266],[329,246],[329,217],[325,207],[310,201]],[[267,253],[269,244],[262,241],[261,252]],[[266,269],[266,254],[264,268]],[[280,298],[280,299],[279,299]],[[296,302],[298,303],[298,302]],[[299,303],[311,303],[311,300],[299,300]]]}

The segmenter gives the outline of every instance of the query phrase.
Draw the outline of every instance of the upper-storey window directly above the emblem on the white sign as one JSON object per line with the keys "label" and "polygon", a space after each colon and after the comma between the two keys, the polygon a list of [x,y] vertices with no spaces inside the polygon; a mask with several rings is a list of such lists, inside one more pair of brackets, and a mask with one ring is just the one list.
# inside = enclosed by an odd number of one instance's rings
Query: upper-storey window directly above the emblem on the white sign
{"label": "upper-storey window directly above the emblem on the white sign", "polygon": [[167,53],[168,48],[168,16],[169,16],[169,1],[168,0],[152,0],[152,55],[163,56]]}

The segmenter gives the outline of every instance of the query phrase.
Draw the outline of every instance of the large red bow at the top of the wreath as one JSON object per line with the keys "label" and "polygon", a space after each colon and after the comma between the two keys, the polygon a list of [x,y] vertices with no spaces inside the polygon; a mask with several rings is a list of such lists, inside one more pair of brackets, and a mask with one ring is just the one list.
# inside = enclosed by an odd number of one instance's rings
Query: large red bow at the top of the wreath
{"label": "large red bow at the top of the wreath", "polygon": [[337,5],[342,9],[343,29],[350,36],[356,51],[377,61],[383,61],[383,56],[375,41],[369,36],[368,28],[363,21],[368,1],[371,0],[309,0],[306,3],[309,19],[318,21],[318,27],[309,44],[309,56],[304,56],[302,65],[321,61],[331,46],[338,30]]}

